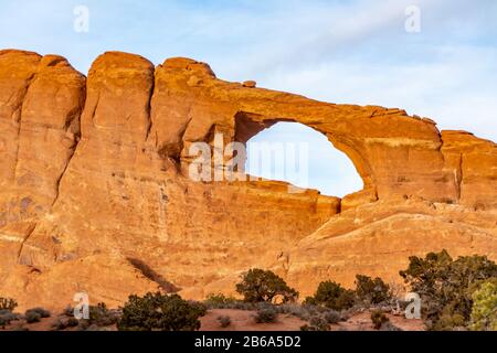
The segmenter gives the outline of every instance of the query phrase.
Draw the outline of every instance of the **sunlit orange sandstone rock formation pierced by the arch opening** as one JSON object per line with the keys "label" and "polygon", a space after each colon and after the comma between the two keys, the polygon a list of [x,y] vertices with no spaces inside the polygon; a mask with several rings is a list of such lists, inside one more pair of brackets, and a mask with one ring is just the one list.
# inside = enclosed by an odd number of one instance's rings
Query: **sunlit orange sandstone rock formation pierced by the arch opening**
{"label": "sunlit orange sandstone rock formation pierced by the arch opening", "polygon": [[[245,143],[277,121],[326,135],[364,189],[188,178],[193,142]],[[86,78],[60,56],[1,51],[0,131],[0,293],[22,306],[77,291],[117,304],[155,277],[202,298],[251,267],[306,295],[358,272],[398,281],[430,250],[497,258],[496,145],[404,110],[223,82],[188,58],[110,52]]]}

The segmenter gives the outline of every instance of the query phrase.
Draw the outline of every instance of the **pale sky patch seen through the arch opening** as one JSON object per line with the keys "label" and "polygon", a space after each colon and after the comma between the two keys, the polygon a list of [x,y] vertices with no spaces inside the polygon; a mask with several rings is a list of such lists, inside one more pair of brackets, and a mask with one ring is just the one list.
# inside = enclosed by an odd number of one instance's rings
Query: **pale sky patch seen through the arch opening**
{"label": "pale sky patch seen through the arch opening", "polygon": [[[303,143],[306,145],[306,163],[308,170],[304,172],[306,178],[300,179],[300,172],[287,173],[288,168],[285,156],[273,156],[269,168],[264,168],[258,153],[254,153],[254,145],[279,143],[285,153],[290,149],[296,151]],[[274,146],[274,145],[273,145]],[[278,122],[265,129],[247,141],[247,161],[245,170],[248,174],[271,180],[290,182],[300,188],[316,189],[321,194],[330,196],[345,196],[349,193],[362,190],[363,183],[350,159],[337,150],[327,137],[313,128],[298,122]],[[252,151],[252,153],[251,153]],[[295,153],[296,159],[300,158]],[[295,167],[299,165],[296,161]],[[255,167],[254,169],[251,169]],[[292,165],[293,167],[293,165]]]}

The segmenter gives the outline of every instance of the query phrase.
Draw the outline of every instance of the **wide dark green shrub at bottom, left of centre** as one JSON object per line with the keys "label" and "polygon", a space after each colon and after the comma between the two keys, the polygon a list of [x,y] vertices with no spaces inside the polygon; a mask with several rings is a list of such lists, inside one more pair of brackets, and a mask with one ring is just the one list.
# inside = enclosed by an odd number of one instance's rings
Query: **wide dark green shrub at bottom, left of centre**
{"label": "wide dark green shrub at bottom, left of centre", "polygon": [[130,296],[118,322],[120,331],[195,331],[202,310],[178,295]]}

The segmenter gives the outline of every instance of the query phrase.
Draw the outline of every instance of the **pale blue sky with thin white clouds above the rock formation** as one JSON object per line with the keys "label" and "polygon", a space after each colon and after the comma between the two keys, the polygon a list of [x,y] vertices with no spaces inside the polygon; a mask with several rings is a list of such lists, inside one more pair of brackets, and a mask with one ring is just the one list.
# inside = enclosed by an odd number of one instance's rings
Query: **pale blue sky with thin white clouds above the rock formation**
{"label": "pale blue sky with thin white clouds above the rock formation", "polygon": [[[413,6],[419,18],[406,12]],[[88,31],[75,30],[80,7]],[[106,51],[155,64],[187,56],[223,79],[403,108],[497,141],[497,1],[0,0],[8,47],[63,55],[82,73]],[[274,139],[309,145],[308,186],[339,196],[360,190],[350,161],[316,131],[277,125],[254,141]]]}

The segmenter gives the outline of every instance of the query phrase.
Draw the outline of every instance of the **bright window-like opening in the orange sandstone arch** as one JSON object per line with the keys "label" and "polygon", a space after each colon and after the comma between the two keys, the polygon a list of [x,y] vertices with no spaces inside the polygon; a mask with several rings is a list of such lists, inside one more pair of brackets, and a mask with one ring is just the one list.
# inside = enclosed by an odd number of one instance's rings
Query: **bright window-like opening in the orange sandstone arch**
{"label": "bright window-like opening in the orange sandstone arch", "polygon": [[295,121],[265,122],[252,137],[245,133],[239,140],[246,145],[247,174],[316,189],[329,196],[343,197],[363,189],[351,160],[324,133]]}

